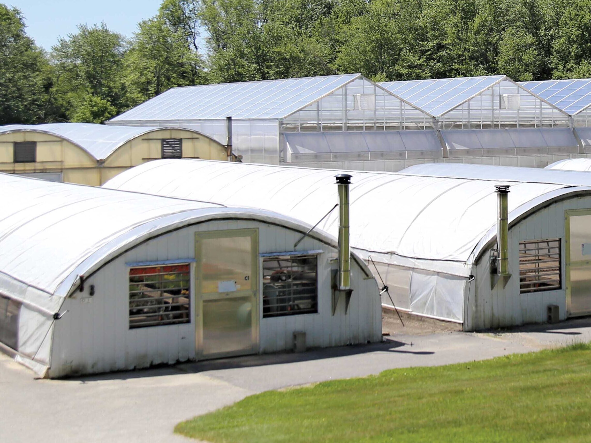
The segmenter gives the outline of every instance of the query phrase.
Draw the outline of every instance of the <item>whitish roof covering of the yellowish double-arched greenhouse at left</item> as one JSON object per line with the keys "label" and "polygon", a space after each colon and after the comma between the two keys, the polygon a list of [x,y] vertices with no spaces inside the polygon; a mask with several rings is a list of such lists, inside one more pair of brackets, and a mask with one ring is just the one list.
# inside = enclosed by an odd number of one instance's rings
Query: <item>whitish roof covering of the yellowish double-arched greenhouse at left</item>
{"label": "whitish roof covering of the yellowish double-arched greenhouse at left", "polygon": [[43,125],[0,126],[0,134],[8,132],[33,131],[63,138],[80,146],[96,160],[104,160],[119,146],[152,131],[161,129],[184,129],[177,126],[165,128],[138,128],[134,126],[106,126],[94,123],[46,123]]}

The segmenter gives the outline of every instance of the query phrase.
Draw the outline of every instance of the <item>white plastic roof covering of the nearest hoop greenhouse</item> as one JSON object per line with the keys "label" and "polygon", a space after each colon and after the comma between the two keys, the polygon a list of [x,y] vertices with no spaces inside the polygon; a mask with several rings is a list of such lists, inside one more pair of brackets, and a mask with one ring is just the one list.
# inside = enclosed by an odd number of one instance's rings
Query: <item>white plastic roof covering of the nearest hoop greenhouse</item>
{"label": "white plastic roof covering of the nearest hoop greenhouse", "polygon": [[[20,301],[18,352],[38,372],[48,364],[53,314],[80,275],[143,240],[219,218],[309,226],[261,209],[126,193],[0,174],[0,293]],[[334,240],[319,234],[327,242]],[[27,361],[28,360],[28,363]]]}

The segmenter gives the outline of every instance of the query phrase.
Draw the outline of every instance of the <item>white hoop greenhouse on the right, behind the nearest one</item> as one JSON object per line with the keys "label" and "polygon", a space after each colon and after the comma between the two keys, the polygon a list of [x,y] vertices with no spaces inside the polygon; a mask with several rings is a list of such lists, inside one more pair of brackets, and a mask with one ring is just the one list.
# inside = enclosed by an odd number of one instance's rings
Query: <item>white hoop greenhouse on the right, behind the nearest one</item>
{"label": "white hoop greenhouse on the right, behind the nearest one", "polygon": [[[457,177],[455,167],[460,168]],[[378,282],[388,286],[384,307],[462,323],[464,330],[545,321],[550,304],[558,306],[563,319],[591,312],[591,297],[573,295],[577,303],[571,305],[564,285],[569,278],[564,210],[588,209],[591,214],[591,176],[479,165],[414,168],[419,168],[416,173],[413,168],[395,174],[351,172],[351,246]],[[473,169],[461,177],[462,168]],[[272,209],[335,234],[338,216],[330,212],[335,196],[327,188],[334,174],[162,160],[126,171],[105,187]],[[505,180],[510,181],[508,271],[513,277],[504,275],[507,281],[499,283],[491,254],[498,249],[498,185]],[[545,271],[530,269],[528,260],[538,263],[530,249],[553,251],[540,258],[549,260]]]}

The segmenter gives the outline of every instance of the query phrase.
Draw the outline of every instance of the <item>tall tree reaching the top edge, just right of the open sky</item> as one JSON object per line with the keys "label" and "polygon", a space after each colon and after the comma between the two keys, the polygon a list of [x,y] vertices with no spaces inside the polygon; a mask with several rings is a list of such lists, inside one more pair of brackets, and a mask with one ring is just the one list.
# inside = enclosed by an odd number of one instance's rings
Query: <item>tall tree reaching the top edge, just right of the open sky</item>
{"label": "tall tree reaching the top edge, just right of the open sky", "polygon": [[158,15],[139,23],[125,57],[130,105],[171,87],[205,82],[194,8],[194,2],[167,0]]}

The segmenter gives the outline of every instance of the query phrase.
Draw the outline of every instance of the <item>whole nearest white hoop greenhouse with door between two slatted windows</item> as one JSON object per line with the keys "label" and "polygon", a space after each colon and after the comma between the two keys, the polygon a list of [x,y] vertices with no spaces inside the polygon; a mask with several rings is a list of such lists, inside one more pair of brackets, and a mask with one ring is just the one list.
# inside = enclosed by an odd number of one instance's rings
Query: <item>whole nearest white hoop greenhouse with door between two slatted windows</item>
{"label": "whole nearest white hoop greenhouse with door between two slatted windows", "polygon": [[[0,351],[37,376],[382,339],[363,260],[291,217],[12,174],[0,185]],[[342,185],[327,186],[336,200]]]}

